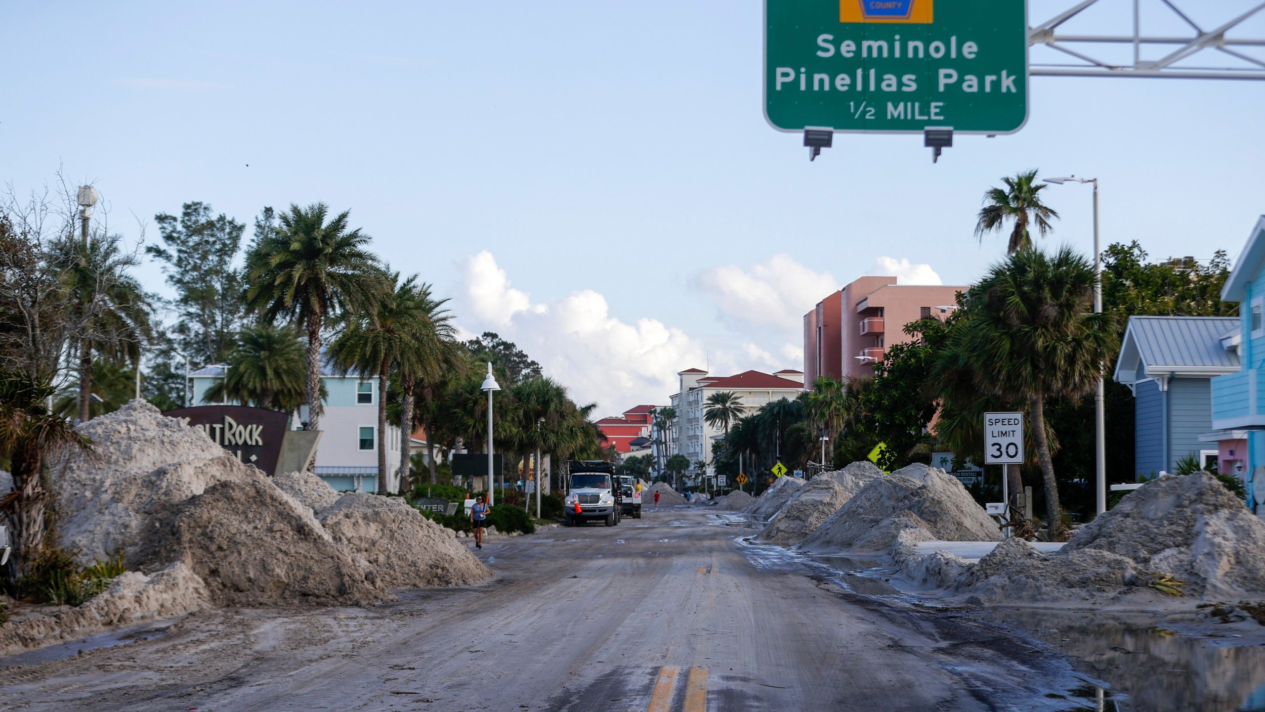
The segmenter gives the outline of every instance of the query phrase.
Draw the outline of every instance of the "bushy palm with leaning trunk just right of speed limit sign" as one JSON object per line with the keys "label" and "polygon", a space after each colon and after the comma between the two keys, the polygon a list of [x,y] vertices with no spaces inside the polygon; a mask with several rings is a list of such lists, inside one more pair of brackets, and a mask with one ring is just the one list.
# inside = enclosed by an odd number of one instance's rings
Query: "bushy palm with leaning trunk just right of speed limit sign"
{"label": "bushy palm with leaning trunk just right of speed limit sign", "polygon": [[1071,248],[1020,250],[972,288],[949,343],[978,389],[1027,403],[1051,540],[1063,521],[1045,404],[1094,390],[1116,350],[1114,317],[1092,313],[1093,289],[1093,265]]}

